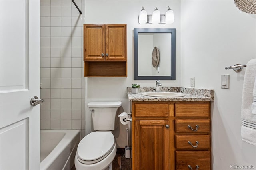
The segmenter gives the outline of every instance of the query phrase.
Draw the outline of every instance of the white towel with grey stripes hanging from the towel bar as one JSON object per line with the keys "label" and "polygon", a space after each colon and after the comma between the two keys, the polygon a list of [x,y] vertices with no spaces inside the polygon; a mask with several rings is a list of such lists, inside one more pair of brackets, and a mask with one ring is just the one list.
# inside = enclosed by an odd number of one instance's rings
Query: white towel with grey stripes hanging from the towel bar
{"label": "white towel with grey stripes hanging from the towel bar", "polygon": [[256,59],[247,63],[242,93],[242,140],[256,146],[256,114],[252,114],[253,90],[256,79]]}

